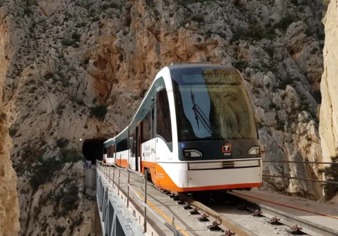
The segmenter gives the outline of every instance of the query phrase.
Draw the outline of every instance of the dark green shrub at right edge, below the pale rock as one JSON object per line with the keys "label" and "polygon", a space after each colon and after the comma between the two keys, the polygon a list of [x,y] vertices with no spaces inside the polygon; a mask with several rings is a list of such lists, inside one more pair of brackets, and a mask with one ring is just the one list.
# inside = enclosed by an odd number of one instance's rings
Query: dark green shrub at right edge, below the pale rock
{"label": "dark green shrub at right edge, below the pale rock", "polygon": [[[338,161],[338,155],[331,158],[332,162]],[[325,167],[318,171],[319,173],[324,173],[327,181],[338,182],[338,164],[331,164],[330,167]],[[332,199],[335,197],[338,192],[338,184],[324,183],[324,193],[326,195],[326,200]]]}

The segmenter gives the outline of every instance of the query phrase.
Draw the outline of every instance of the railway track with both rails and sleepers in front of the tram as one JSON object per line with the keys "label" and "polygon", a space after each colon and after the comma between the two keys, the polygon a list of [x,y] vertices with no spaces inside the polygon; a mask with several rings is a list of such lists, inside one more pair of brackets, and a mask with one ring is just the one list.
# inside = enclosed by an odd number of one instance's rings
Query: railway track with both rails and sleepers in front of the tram
{"label": "railway track with both rails and sleepers in front of the tram", "polygon": [[[143,181],[132,179],[143,184]],[[308,222],[275,208],[255,204],[243,199],[239,193],[229,191],[195,194],[172,193],[158,189],[151,182],[148,184],[184,208],[187,215],[203,222],[205,226],[208,225],[209,230],[219,231],[220,236],[338,235],[337,230]]]}

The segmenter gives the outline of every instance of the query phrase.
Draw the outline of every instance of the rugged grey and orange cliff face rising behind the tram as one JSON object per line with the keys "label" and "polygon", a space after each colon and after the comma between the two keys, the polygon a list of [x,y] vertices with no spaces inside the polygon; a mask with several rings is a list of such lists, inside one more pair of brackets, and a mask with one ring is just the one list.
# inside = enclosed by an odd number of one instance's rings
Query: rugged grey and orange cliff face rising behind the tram
{"label": "rugged grey and orange cliff face rising behind the tram", "polygon": [[[57,226],[68,235],[78,232],[72,226],[81,209],[94,214],[95,203],[83,200],[83,180],[68,166],[81,163],[73,150],[81,150],[80,138],[109,138],[121,131],[155,74],[172,61],[221,63],[241,71],[265,160],[322,160],[317,110],[324,6],[319,0],[23,0],[21,15],[37,64],[15,6],[1,2],[0,19],[7,22],[10,39],[0,56],[8,65],[6,112],[17,131],[11,157],[19,176],[21,235],[44,227],[54,233]],[[48,171],[54,162],[59,169]],[[282,169],[264,164],[266,175],[280,175]],[[284,164],[287,176],[300,178],[321,178],[317,169]],[[34,181],[41,170],[49,176],[46,182]],[[53,181],[59,184],[52,186]],[[285,186],[289,194],[310,199],[322,194],[319,184],[286,180]],[[77,208],[64,212],[61,189],[79,193],[73,199]],[[283,191],[284,182],[264,178],[263,189]],[[48,207],[55,215],[48,215]],[[34,220],[37,212],[46,221]],[[70,222],[61,224],[63,219]],[[83,225],[96,235],[94,220]]]}

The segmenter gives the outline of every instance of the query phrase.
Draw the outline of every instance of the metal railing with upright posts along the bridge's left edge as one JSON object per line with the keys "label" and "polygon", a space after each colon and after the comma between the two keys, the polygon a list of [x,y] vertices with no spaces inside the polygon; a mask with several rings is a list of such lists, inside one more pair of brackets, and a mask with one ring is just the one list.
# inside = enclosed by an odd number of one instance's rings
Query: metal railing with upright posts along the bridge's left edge
{"label": "metal railing with upright posts along the bridge's left edge", "polygon": [[[135,193],[135,195],[138,197],[139,201],[141,202],[141,204],[144,206],[143,209],[143,233],[146,233],[147,231],[147,221],[146,221],[146,217],[147,217],[147,209],[148,211],[150,211],[150,213],[154,214],[160,221],[162,224],[164,224],[167,228],[169,228],[169,230],[172,231],[174,236],[183,236],[175,227],[175,217],[172,217],[172,224],[170,225],[168,222],[166,222],[165,219],[163,219],[163,217],[159,216],[159,214],[155,213],[151,206],[147,204],[147,175],[148,175],[148,171],[145,171],[145,176],[144,176],[144,200],[139,196],[139,194],[137,193],[137,191],[135,191],[135,189],[132,188],[132,186],[130,186],[130,172],[135,173],[137,175],[139,175],[139,173],[136,173],[130,169],[125,169],[125,168],[121,168],[118,167],[116,164],[106,164],[103,163],[99,160],[96,160],[97,163],[97,169],[99,169],[103,175],[106,176],[106,178],[108,178],[108,182],[112,183],[112,186],[114,186],[115,184],[115,169],[119,169],[119,177],[117,180],[117,195],[119,195],[119,191],[120,191],[120,181],[122,181],[124,184],[127,185],[127,208],[129,208],[129,190],[131,189],[133,193]],[[113,168],[113,172],[112,172],[112,179],[110,178],[110,167],[114,167]],[[123,171],[127,171],[128,172],[128,182],[124,181],[121,179],[121,169]],[[141,176],[141,175],[140,175]]]}

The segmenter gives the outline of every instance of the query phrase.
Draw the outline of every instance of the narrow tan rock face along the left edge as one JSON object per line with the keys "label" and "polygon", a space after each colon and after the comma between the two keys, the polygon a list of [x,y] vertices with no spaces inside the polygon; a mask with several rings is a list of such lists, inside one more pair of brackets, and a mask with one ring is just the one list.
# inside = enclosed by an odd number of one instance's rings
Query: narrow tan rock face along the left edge
{"label": "narrow tan rock face along the left edge", "polygon": [[[8,25],[3,22],[3,12],[0,8],[0,96],[3,98],[8,61],[5,59],[5,47],[8,43]],[[19,202],[17,196],[17,175],[12,168],[10,149],[12,140],[8,134],[8,122],[3,111],[3,101],[0,100],[0,235],[18,235]]]}

